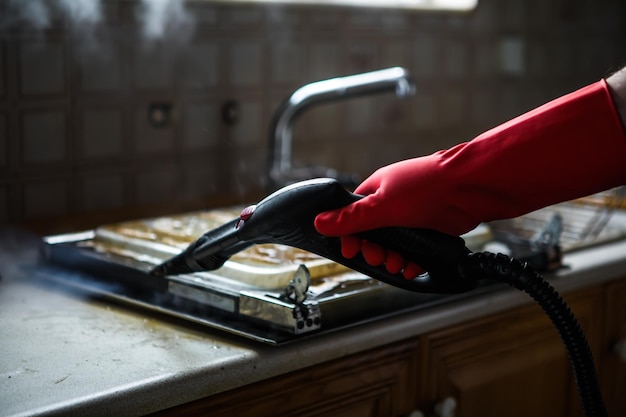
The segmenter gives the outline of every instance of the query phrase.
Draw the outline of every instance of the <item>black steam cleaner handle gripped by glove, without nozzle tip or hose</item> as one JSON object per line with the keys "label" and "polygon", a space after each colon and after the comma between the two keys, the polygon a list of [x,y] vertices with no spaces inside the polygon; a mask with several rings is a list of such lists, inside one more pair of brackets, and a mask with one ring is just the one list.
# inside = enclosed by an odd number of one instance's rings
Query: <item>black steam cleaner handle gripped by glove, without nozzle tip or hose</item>
{"label": "black steam cleaner handle gripped by glove, without nozzle tip or hose", "polygon": [[[381,247],[401,254],[429,272],[415,280],[407,280],[402,273],[392,274],[385,265],[370,265],[358,254],[346,258],[341,252],[339,237],[320,234],[315,228],[315,217],[328,210],[348,206],[363,198],[344,188],[331,178],[317,178],[286,186],[258,204],[246,208],[239,226],[229,229],[224,237],[215,239],[209,246],[217,249],[220,257],[229,256],[242,249],[238,244],[217,248],[218,241],[234,240],[246,245],[278,243],[297,247],[341,263],[375,279],[411,291],[425,293],[463,292],[473,288],[459,272],[457,265],[469,250],[458,236],[445,235],[428,229],[385,227],[359,233],[360,237]],[[221,236],[221,234],[218,233]],[[235,236],[232,236],[235,235]],[[230,236],[230,237],[229,237]],[[196,255],[209,253],[200,250]],[[470,285],[471,284],[471,285]]]}

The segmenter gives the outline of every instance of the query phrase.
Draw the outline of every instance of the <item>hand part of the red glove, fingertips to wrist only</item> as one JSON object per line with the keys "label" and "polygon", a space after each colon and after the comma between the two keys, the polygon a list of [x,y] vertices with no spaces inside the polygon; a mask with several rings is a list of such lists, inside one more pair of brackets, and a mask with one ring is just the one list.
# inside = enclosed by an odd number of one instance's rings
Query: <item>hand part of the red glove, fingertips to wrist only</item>
{"label": "hand part of the red glove, fingertips to wrist only", "polygon": [[[359,252],[370,265],[385,265],[392,274],[412,279],[423,272],[397,252],[356,236],[361,231],[400,226],[430,228],[460,235],[479,221],[463,212],[445,184],[443,152],[397,162],[380,168],[355,190],[364,197],[349,206],[322,213],[315,227],[325,235],[340,236],[342,254],[352,258]],[[451,198],[452,197],[452,198]]]}

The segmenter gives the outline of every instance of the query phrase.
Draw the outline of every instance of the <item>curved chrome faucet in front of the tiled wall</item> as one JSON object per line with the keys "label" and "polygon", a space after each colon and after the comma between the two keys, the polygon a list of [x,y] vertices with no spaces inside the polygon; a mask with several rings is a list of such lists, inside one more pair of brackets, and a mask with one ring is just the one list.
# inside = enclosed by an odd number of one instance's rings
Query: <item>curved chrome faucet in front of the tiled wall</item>
{"label": "curved chrome faucet in front of the tiled wall", "polygon": [[[296,117],[314,104],[388,91],[395,92],[398,97],[415,94],[415,84],[407,70],[400,67],[382,69],[317,81],[295,90],[276,110],[270,126],[270,188],[275,190],[313,177],[332,177],[341,181],[341,175],[330,168],[292,166],[292,133]],[[354,176],[346,179],[356,185]]]}

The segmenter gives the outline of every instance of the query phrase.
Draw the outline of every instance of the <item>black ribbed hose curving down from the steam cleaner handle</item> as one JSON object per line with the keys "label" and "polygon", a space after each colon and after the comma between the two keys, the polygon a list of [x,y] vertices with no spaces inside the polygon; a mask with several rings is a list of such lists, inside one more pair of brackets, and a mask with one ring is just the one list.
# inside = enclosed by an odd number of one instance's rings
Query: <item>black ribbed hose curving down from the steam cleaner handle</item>
{"label": "black ribbed hose curving down from the steam cleaner handle", "polygon": [[464,272],[505,282],[530,295],[548,315],[565,345],[583,411],[587,417],[606,417],[593,355],[578,320],[559,293],[532,270],[508,256],[489,252],[468,255]]}

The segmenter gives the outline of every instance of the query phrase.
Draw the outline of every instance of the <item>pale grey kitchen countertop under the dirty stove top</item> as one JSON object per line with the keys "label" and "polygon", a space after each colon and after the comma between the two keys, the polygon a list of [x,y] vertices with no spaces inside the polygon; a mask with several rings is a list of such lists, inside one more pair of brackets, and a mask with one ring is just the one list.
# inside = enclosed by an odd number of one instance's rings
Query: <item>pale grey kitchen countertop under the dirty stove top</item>
{"label": "pale grey kitchen countertop under the dirty stove top", "polygon": [[[513,289],[281,346],[32,279],[37,254],[0,234],[0,415],[143,415],[532,303]],[[626,276],[626,240],[573,252],[547,277],[561,293]]]}

